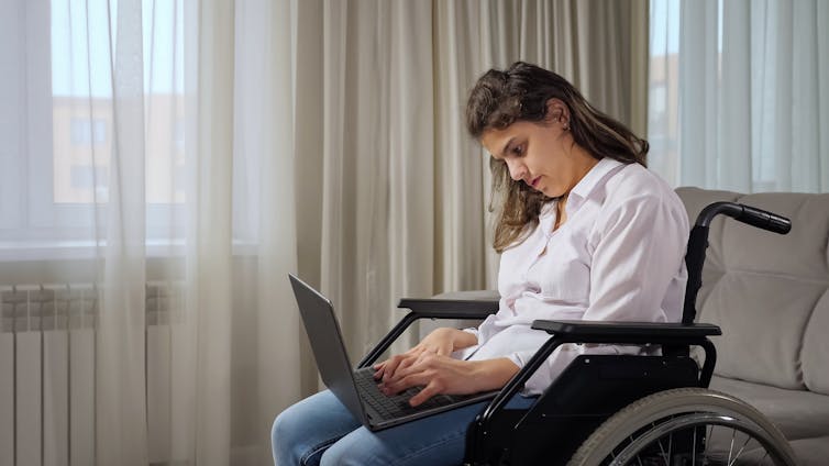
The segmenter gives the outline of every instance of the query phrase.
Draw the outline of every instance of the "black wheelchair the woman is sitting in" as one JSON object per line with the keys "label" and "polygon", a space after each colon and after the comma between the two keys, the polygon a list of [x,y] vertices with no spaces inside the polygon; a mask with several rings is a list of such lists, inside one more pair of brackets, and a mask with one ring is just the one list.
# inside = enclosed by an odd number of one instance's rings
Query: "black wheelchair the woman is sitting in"
{"label": "black wheelchair the woman is sitting in", "polygon": [[[679,323],[534,321],[549,340],[475,418],[464,465],[796,465],[786,439],[748,403],[708,389],[716,350],[712,324],[695,323],[696,296],[711,220],[725,214],[788,233],[791,222],[736,202],[697,217],[685,256],[688,282]],[[497,300],[401,299],[409,309],[360,363],[373,364],[419,319],[485,319]],[[527,409],[507,402],[562,344],[659,345],[657,355],[579,355]],[[700,348],[697,363],[692,348]]]}

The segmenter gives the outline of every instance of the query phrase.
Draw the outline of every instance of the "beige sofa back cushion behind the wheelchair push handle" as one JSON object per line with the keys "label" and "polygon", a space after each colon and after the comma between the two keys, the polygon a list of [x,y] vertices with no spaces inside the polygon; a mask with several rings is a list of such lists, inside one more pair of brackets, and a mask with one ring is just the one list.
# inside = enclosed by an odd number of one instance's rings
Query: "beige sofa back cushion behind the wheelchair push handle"
{"label": "beige sofa back cushion behind the wheelchair push handle", "polygon": [[696,188],[677,193],[692,222],[705,206],[721,200],[770,210],[793,222],[785,236],[725,215],[711,222],[697,320],[722,328],[723,335],[712,339],[716,374],[825,390],[829,374],[819,331],[827,328],[811,325],[826,319],[821,309],[829,289],[829,195],[743,196]]}

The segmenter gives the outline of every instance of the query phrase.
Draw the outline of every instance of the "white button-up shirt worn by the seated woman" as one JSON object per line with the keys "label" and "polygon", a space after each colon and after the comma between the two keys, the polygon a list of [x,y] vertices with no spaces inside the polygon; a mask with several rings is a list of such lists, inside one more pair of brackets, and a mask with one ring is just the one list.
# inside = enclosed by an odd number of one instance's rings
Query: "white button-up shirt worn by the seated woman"
{"label": "white button-up shirt worn by the seated woman", "polygon": [[[460,357],[508,357],[523,367],[550,337],[532,321],[678,322],[687,274],[688,218],[676,193],[639,164],[604,158],[571,190],[555,231],[555,202],[538,228],[501,254],[500,307]],[[637,346],[562,345],[527,381],[541,393],[579,354],[640,352]]]}

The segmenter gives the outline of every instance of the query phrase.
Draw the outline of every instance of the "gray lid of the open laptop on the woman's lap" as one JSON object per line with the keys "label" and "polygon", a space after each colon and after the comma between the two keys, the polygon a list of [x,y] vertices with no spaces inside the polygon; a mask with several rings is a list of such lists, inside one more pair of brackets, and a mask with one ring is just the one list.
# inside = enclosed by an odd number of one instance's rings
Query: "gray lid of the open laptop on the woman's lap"
{"label": "gray lid of the open laptop on the woman's lap", "polygon": [[294,275],[289,277],[322,381],[354,418],[368,425],[331,301]]}

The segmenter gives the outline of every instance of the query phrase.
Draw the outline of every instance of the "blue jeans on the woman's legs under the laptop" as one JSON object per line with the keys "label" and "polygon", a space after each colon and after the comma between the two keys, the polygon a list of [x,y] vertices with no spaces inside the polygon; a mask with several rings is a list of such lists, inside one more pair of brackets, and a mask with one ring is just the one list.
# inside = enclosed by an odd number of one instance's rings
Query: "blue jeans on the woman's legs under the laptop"
{"label": "blue jeans on the woman's legs under the laptop", "polygon": [[[517,396],[510,408],[534,398]],[[372,432],[325,390],[289,407],[274,421],[270,440],[277,466],[460,465],[466,429],[487,402]]]}

